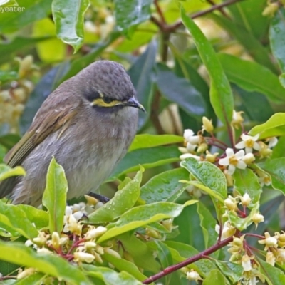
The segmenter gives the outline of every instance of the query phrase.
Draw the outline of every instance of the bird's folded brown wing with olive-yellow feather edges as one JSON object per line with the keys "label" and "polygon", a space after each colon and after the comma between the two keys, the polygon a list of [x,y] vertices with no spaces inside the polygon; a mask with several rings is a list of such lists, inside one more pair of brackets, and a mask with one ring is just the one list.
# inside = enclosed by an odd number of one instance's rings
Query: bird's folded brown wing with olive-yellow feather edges
{"label": "bird's folded brown wing with olive-yellow feather edges", "polygon": [[[71,124],[77,113],[77,106],[66,104],[64,108],[40,108],[36,113],[31,127],[21,140],[7,153],[4,162],[10,167],[21,165],[25,157],[51,133],[61,128],[61,133]],[[9,177],[0,182],[0,198],[5,197],[13,190],[17,177]]]}

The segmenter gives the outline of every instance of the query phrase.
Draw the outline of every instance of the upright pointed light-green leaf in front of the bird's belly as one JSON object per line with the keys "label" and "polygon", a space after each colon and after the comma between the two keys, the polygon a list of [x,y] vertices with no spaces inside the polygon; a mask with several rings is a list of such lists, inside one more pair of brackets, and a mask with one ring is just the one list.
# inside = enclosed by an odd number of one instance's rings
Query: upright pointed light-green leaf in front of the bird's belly
{"label": "upright pointed light-green leaf in front of the bird's belly", "polygon": [[46,175],[46,189],[43,192],[43,206],[48,209],[50,232],[61,232],[66,211],[68,184],[63,167],[53,157]]}

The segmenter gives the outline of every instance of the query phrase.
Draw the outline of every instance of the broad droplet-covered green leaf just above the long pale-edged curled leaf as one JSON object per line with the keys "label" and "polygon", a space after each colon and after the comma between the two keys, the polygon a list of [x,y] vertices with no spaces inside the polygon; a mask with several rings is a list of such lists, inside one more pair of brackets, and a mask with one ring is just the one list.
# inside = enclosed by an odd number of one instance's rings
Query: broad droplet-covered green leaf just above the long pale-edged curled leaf
{"label": "broad droplet-covered green leaf just above the long pale-edged curled leaf", "polygon": [[180,180],[187,179],[189,179],[189,172],[183,168],[162,172],[141,187],[140,197],[147,204],[160,201],[175,202],[185,190],[185,185]]}

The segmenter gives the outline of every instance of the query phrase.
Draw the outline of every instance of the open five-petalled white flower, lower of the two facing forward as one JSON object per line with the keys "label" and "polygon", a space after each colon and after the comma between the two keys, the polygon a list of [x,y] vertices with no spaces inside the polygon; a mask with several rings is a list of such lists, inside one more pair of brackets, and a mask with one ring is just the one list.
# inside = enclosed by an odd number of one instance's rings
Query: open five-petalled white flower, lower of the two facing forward
{"label": "open five-petalled white flower, lower of the two facing forward", "polygon": [[219,165],[229,165],[227,171],[228,174],[232,175],[234,170],[236,170],[236,167],[239,169],[245,169],[247,167],[247,164],[242,161],[244,157],[244,150],[239,150],[237,153],[234,153],[232,148],[227,148],[226,155],[226,157],[219,160]]}

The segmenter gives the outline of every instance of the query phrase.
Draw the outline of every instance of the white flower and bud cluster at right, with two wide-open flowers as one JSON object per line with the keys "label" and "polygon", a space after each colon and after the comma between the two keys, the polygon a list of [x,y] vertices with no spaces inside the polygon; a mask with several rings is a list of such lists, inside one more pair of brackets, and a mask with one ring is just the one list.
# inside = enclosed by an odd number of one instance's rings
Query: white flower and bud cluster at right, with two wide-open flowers
{"label": "white flower and bud cluster at right, with two wide-open flowers", "polygon": [[[239,128],[243,123],[242,112],[234,111],[232,116],[232,128]],[[204,131],[210,133],[210,137],[203,135]],[[224,171],[224,175],[227,177],[228,185],[231,185],[231,175],[234,174],[237,168],[244,170],[250,167],[252,162],[257,158],[260,160],[264,157],[270,157],[272,154],[272,147],[274,147],[278,140],[277,138],[267,138],[266,140],[259,140],[259,134],[248,135],[242,133],[240,140],[234,143],[233,147],[229,147],[221,140],[214,137],[212,133],[214,127],[212,121],[203,117],[202,130],[195,135],[195,133],[187,129],[184,131],[185,147],[179,147],[181,160],[185,160],[188,157],[195,158],[198,161],[208,161],[216,164],[221,170]],[[209,151],[209,147],[214,146],[222,150],[222,153]],[[255,170],[259,177],[261,186],[270,185],[271,180],[269,175]]]}

